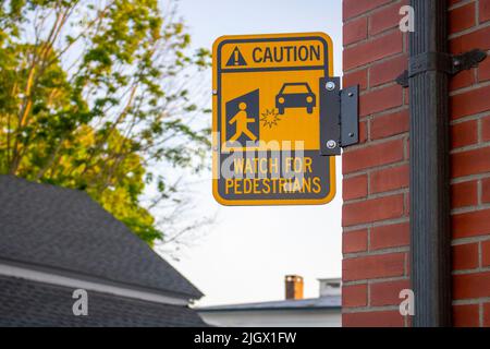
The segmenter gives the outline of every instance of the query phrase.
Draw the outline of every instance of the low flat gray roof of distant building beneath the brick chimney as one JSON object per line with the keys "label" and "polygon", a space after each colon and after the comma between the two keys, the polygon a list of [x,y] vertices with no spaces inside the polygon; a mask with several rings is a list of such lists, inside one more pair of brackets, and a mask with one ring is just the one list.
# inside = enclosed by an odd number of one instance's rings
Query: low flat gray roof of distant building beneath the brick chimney
{"label": "low flat gray roof of distant building beneath the brick chimney", "polygon": [[302,300],[284,300],[246,304],[230,304],[196,308],[197,312],[231,312],[231,311],[278,311],[278,310],[326,310],[340,309],[341,296],[324,296]]}

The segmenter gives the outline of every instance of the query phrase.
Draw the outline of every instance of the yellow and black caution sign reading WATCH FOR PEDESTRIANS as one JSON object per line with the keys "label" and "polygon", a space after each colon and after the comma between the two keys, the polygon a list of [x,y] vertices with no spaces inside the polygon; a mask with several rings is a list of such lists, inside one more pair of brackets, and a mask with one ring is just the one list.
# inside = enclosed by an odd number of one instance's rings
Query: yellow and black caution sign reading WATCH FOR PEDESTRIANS
{"label": "yellow and black caution sign reading WATCH FOR PEDESTRIANS", "polygon": [[223,36],[213,45],[213,195],[223,205],[326,204],[335,157],[320,154],[323,33]]}

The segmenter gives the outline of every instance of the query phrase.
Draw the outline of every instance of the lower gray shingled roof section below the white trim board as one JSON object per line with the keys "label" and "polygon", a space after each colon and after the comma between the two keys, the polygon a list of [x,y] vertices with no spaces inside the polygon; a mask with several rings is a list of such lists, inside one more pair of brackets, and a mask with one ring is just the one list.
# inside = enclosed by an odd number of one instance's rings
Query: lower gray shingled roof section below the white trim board
{"label": "lower gray shingled roof section below the white trim board", "polygon": [[188,306],[88,291],[88,316],[73,316],[73,289],[0,276],[0,327],[201,327]]}

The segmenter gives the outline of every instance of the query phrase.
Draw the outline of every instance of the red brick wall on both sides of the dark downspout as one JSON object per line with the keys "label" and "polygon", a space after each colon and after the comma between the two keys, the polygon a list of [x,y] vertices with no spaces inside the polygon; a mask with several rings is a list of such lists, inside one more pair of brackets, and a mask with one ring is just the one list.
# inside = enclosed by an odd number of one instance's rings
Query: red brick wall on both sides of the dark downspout
{"label": "red brick wall on both sides of the dark downspout", "polygon": [[[359,84],[360,144],[343,155],[343,325],[408,326],[407,0],[343,0],[344,86]],[[490,49],[490,0],[449,1],[451,50]],[[490,59],[451,81],[454,324],[490,326]]]}

